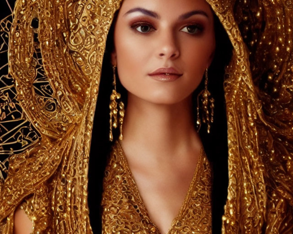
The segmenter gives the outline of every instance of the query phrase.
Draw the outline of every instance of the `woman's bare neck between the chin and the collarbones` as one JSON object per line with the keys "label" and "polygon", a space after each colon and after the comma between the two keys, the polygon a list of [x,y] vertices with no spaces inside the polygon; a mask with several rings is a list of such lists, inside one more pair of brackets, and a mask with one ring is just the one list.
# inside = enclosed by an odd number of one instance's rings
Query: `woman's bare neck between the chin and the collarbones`
{"label": "woman's bare neck between the chin and the collarbones", "polygon": [[123,138],[126,151],[148,149],[160,157],[199,148],[191,96],[176,104],[154,104],[129,94]]}

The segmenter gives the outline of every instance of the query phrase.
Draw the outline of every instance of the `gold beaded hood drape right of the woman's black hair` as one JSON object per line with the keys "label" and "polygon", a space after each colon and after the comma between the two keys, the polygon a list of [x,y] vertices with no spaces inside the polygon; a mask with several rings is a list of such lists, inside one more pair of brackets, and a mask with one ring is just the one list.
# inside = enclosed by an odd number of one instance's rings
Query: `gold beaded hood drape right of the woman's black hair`
{"label": "gold beaded hood drape right of the woman's black hair", "polygon": [[292,1],[208,2],[234,46],[222,232],[292,233]]}

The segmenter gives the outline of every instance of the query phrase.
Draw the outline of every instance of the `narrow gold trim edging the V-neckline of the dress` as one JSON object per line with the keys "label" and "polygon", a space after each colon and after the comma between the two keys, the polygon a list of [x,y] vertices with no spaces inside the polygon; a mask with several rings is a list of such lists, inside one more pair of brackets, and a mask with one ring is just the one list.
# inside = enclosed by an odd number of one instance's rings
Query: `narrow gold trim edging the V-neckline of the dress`
{"label": "narrow gold trim edging the V-neckline of the dress", "polygon": [[[131,181],[130,183],[132,183],[132,186],[134,187],[134,190],[133,191],[134,191],[135,195],[138,198],[138,201],[137,202],[139,203],[139,206],[140,206],[139,209],[142,210],[144,212],[144,214],[149,218],[149,221],[151,222],[151,225],[156,228],[157,233],[162,234],[160,232],[159,228],[156,226],[156,224],[151,220],[151,218],[149,216],[149,213],[147,211],[147,208],[145,207],[144,202],[142,200],[142,197],[139,194],[139,191],[138,191],[138,188],[137,188],[137,184],[136,184],[136,182],[134,180],[134,177],[132,175],[132,172],[130,170],[130,167],[129,167],[127,158],[126,158],[126,156],[124,154],[124,151],[123,151],[123,148],[122,148],[122,146],[120,144],[120,141],[117,141],[117,146],[118,146],[118,150],[121,153],[120,155],[121,155],[121,158],[122,158],[122,164],[125,167],[125,170],[127,172],[127,175],[129,175],[129,177],[130,177],[130,181]],[[194,187],[195,183],[198,180],[198,170],[199,170],[200,164],[202,164],[202,158],[203,158],[203,148],[201,147],[201,149],[200,149],[200,156],[199,156],[199,158],[197,160],[197,164],[196,164],[195,169],[194,169],[194,172],[193,172],[193,178],[192,178],[192,180],[191,180],[191,182],[190,182],[190,184],[188,186],[187,193],[186,193],[186,195],[185,195],[185,197],[183,199],[183,202],[181,204],[181,207],[179,209],[178,214],[175,216],[175,218],[173,218],[173,221],[171,223],[171,226],[168,229],[168,232],[166,234],[171,234],[171,231],[173,230],[174,226],[176,224],[180,223],[178,219],[180,218],[181,214],[185,210],[185,207],[188,204],[188,200],[190,199],[190,193],[192,192],[193,187]]]}

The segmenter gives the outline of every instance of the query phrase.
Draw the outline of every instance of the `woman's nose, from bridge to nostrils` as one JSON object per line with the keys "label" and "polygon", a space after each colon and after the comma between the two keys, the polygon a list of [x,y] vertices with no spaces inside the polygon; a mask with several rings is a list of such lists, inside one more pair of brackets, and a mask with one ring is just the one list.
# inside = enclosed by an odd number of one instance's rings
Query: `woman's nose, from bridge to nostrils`
{"label": "woman's nose, from bridge to nostrils", "polygon": [[180,55],[179,45],[173,32],[161,32],[158,38],[160,58],[176,59]]}

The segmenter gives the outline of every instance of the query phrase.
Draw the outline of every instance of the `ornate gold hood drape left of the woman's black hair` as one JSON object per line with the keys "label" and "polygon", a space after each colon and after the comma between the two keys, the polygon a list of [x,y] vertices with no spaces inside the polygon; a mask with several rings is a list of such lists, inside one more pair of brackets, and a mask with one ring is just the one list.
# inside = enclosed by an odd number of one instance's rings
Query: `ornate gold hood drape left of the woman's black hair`
{"label": "ornate gold hood drape left of the woman's black hair", "polygon": [[[16,2],[9,74],[15,79],[22,118],[41,137],[9,157],[8,176],[0,187],[0,233],[12,233],[16,206],[39,193],[42,196],[31,198],[36,202],[28,202],[35,206],[30,210],[43,211],[33,213],[34,233],[92,233],[87,205],[90,138],[106,35],[119,5],[120,1]],[[49,98],[33,87],[38,76],[36,43],[43,79],[52,90]]]}

